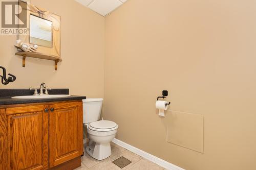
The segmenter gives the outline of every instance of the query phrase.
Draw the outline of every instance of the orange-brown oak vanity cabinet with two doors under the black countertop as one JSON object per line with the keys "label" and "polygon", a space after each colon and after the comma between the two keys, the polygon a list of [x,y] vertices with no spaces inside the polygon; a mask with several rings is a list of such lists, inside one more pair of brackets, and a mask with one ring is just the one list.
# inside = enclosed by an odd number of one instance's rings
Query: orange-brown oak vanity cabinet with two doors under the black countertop
{"label": "orange-brown oak vanity cabinet with two doors under the black countertop", "polygon": [[82,151],[81,101],[0,106],[1,170],[73,169]]}

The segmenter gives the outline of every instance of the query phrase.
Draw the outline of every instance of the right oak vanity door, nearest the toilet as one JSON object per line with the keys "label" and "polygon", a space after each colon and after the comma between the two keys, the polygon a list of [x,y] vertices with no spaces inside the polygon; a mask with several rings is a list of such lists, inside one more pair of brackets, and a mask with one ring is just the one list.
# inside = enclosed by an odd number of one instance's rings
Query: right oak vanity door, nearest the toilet
{"label": "right oak vanity door, nearest the toilet", "polygon": [[49,106],[50,167],[82,155],[82,102]]}

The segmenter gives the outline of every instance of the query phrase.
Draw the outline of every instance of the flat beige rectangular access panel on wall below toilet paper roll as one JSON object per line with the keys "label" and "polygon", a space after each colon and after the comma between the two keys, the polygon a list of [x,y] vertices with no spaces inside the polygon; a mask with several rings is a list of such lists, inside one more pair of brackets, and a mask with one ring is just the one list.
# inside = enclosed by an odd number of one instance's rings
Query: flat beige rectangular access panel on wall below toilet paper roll
{"label": "flat beige rectangular access panel on wall below toilet paper roll", "polygon": [[203,153],[203,115],[168,111],[167,141]]}

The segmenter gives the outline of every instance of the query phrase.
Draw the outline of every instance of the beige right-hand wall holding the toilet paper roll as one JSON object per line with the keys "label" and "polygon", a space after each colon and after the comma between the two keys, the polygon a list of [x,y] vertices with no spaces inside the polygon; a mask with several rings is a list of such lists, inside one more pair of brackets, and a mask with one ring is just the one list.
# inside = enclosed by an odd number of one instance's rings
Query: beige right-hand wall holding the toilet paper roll
{"label": "beige right-hand wall holding the toilet paper roll", "polygon": [[[129,0],[107,16],[104,117],[117,138],[185,169],[256,169],[255,17],[255,1],[233,0]],[[203,154],[166,142],[164,89],[170,109],[204,116]]]}

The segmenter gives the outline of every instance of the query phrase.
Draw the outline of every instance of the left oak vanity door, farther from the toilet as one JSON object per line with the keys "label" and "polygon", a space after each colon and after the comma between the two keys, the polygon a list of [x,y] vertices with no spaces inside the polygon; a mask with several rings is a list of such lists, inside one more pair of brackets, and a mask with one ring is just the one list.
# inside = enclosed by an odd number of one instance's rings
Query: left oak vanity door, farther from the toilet
{"label": "left oak vanity door, farther from the toilet", "polygon": [[7,169],[48,169],[48,105],[6,109]]}

